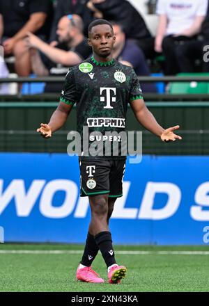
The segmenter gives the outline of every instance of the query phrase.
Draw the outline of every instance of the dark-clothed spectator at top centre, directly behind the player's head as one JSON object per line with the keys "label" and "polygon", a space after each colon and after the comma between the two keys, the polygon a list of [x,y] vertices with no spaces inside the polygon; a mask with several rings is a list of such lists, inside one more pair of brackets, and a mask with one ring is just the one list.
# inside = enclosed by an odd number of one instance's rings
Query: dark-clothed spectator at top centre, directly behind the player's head
{"label": "dark-clothed spectator at top centre, directly behind the player's head", "polygon": [[[147,58],[153,57],[154,39],[138,10],[126,0],[58,0],[49,42],[56,43],[56,25],[63,15],[77,14],[84,22],[84,34],[93,19],[104,18],[123,24],[127,38],[137,41]],[[152,54],[152,55],[151,55]]]}

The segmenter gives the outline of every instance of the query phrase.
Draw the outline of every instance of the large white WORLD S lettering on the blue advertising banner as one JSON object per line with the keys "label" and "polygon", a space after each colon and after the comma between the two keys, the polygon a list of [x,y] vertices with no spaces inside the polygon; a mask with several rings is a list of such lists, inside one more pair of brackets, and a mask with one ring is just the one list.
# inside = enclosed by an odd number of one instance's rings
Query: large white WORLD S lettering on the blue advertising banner
{"label": "large white WORLD S lettering on the blue advertising banner", "polygon": [[[11,205],[15,207],[17,217],[29,217],[33,208],[38,205],[40,214],[45,218],[66,218],[73,214],[75,218],[86,218],[89,209],[88,197],[78,199],[78,186],[69,179],[34,179],[30,184],[23,179],[13,179],[10,184],[4,184],[0,179],[0,216]],[[27,188],[26,188],[27,186]],[[4,187],[4,188],[3,188]],[[144,193],[138,207],[127,207],[127,197],[130,193],[131,182],[123,182],[123,197],[118,198],[117,205],[111,218],[166,220],[174,216],[182,201],[182,191],[171,182],[146,182]],[[63,191],[65,198],[54,206],[56,193]],[[209,182],[196,187],[194,202],[189,209],[192,220],[209,221],[208,211]],[[137,191],[134,193],[137,195]],[[162,207],[156,208],[157,195],[167,195]],[[206,228],[208,235],[208,228]],[[208,236],[207,236],[208,237]]]}

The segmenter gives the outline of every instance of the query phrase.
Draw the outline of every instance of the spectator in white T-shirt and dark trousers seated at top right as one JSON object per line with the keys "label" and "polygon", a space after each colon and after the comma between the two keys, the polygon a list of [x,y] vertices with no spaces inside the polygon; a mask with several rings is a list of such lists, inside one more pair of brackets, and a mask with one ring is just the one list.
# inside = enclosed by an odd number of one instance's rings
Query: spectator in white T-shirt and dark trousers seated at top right
{"label": "spectator in white T-shirt and dark trousers seated at top right", "polygon": [[178,46],[196,38],[206,16],[208,0],[158,0],[157,14],[160,15],[155,51],[166,58],[165,74],[176,74]]}

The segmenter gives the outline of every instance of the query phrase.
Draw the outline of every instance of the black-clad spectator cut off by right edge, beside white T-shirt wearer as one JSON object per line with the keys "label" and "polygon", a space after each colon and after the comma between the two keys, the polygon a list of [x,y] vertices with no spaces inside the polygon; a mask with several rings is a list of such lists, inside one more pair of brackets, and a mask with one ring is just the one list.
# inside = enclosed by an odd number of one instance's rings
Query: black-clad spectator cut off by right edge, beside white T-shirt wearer
{"label": "black-clad spectator cut off by right edge, beside white T-shirt wearer", "polygon": [[205,46],[209,46],[209,14],[204,20],[201,26],[201,33],[196,40],[178,47],[177,56],[180,72],[195,72],[194,64],[197,59],[201,61],[202,72],[209,72],[209,54],[206,59],[204,57],[204,54],[209,49],[208,47],[204,49]]}

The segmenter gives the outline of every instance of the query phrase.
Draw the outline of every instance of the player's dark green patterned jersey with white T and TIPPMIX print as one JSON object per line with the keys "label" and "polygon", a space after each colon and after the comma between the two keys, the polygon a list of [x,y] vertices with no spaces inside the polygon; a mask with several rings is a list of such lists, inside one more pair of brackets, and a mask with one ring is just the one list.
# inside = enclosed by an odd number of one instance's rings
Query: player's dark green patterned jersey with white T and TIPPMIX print
{"label": "player's dark green patterned jersey with white T and TIPPMIX print", "polygon": [[[96,145],[96,141],[103,145],[107,141],[120,143],[120,136],[116,138],[114,134],[125,131],[127,104],[141,98],[139,79],[132,67],[122,65],[116,60],[98,63],[93,57],[70,67],[61,94],[61,102],[76,103],[77,131],[82,136],[82,143],[83,140],[88,141],[88,147]],[[88,134],[86,130],[83,133],[84,127],[88,127]],[[85,152],[83,154],[86,155]],[[115,155],[112,147],[111,153],[105,154],[103,151],[102,158],[109,159],[109,155]],[[120,157],[121,149],[116,155],[119,155],[118,158],[125,158]]]}

